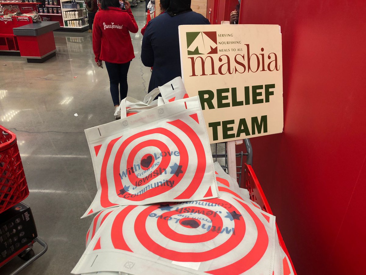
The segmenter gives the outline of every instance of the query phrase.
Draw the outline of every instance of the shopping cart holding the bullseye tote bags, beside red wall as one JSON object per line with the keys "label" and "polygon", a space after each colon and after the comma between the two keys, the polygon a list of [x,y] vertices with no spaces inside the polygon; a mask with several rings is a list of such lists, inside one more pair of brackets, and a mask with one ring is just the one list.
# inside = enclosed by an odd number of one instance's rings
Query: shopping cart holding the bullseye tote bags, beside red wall
{"label": "shopping cart holding the bullseye tote bags, beside red wall", "polygon": [[[256,203],[258,203],[259,206],[261,206],[262,210],[265,212],[273,215],[273,212],[269,206],[269,203],[266,199],[266,196],[263,192],[263,189],[261,187],[261,184],[259,184],[259,181],[257,179],[257,176],[254,173],[253,170],[253,149],[251,147],[251,143],[249,139],[244,139],[246,152],[240,152],[235,153],[236,157],[236,175],[238,184],[240,187],[246,188],[249,191],[250,199]],[[214,161],[219,161],[221,164],[221,167],[224,169],[225,172],[229,172],[229,164],[228,164],[228,146],[227,142],[223,143],[216,143],[215,149],[213,150],[212,157]],[[246,156],[246,162],[243,164],[243,156]],[[244,176],[242,174],[244,173]],[[242,178],[244,179],[244,184],[242,184]],[[294,270],[294,274],[297,275],[295,271],[294,264],[292,263],[290,254],[288,253],[287,247],[285,245],[285,242],[282,238],[281,232],[277,226],[276,223],[276,230],[277,235],[279,238],[280,246],[282,247],[283,251],[285,252],[286,256],[288,257],[288,260],[291,263],[292,269]]]}

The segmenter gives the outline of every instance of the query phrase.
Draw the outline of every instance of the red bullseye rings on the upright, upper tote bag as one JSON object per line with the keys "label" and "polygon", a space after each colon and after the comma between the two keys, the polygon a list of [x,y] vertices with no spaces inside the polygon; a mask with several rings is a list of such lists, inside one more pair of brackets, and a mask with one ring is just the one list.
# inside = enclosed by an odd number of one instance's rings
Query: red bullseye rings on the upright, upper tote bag
{"label": "red bullseye rings on the upright, upper tote bag", "polygon": [[[197,116],[197,114],[195,114]],[[194,119],[194,118],[190,118]],[[195,119],[194,119],[195,120]],[[197,120],[195,120],[197,122]],[[196,123],[195,122],[195,123]],[[171,122],[167,122],[170,124],[170,128],[174,127],[179,129],[180,135],[182,133],[186,135],[191,141],[191,147],[188,149],[186,147],[186,144],[183,143],[183,141],[172,131],[169,131],[169,129],[166,128],[154,128],[149,129],[146,131],[142,131],[139,133],[136,133],[130,137],[127,137],[122,144],[119,145],[115,156],[113,156],[113,180],[115,188],[115,194],[116,196],[124,199],[128,199],[129,201],[143,201],[144,199],[151,198],[154,196],[158,196],[160,194],[163,194],[164,192],[167,192],[169,190],[172,190],[172,188],[179,185],[181,180],[184,178],[184,175],[190,165],[189,159],[190,157],[193,157],[194,159],[197,159],[197,167],[189,167],[190,171],[195,171],[193,175],[193,179],[191,178],[190,184],[183,189],[183,192],[181,191],[180,194],[178,193],[176,199],[190,199],[195,192],[198,190],[199,184],[203,176],[205,175],[206,170],[206,157],[205,157],[205,149],[202,145],[202,141],[200,140],[197,133],[186,124],[186,122],[182,120],[175,120]],[[167,127],[169,128],[169,127]],[[143,140],[146,137],[146,140]],[[103,208],[108,208],[111,206],[117,205],[116,203],[112,203],[109,198],[109,190],[108,190],[108,178],[107,178],[107,166],[110,159],[112,159],[112,150],[115,147],[115,144],[120,140],[121,137],[118,137],[117,139],[112,140],[109,142],[107,146],[107,150],[104,155],[104,159],[102,161],[102,167],[101,167],[101,175],[100,175],[100,182],[101,182],[101,206]],[[173,144],[173,148],[169,148],[167,143],[162,142],[161,140],[169,139],[171,141],[171,144]],[[143,141],[139,141],[143,140]],[[132,145],[135,144],[136,145]],[[133,146],[132,149],[130,148],[131,145]],[[158,161],[160,162],[158,165],[153,166],[154,162],[157,162],[155,158],[153,158],[153,161],[148,165],[149,167],[142,167],[142,159],[145,159],[146,162],[147,157],[150,155],[154,157],[154,153],[145,154],[143,157],[137,157],[139,152],[142,152],[144,148],[150,147],[150,148],[156,148],[155,154],[159,155],[160,158]],[[128,148],[128,149],[127,149]],[[192,150],[194,148],[194,150]],[[128,150],[128,151],[127,151]],[[182,171],[179,171],[179,173],[168,173],[170,172],[169,166],[172,164],[172,157],[170,155],[170,152],[172,151],[179,151],[179,157],[175,156],[175,158],[178,160],[177,164],[179,167],[182,167]],[[190,153],[190,157],[188,157],[188,151]],[[168,153],[169,152],[169,153]],[[126,159],[126,167],[121,167],[121,163],[123,163],[123,159]],[[145,163],[144,162],[144,163]],[[138,177],[134,171],[134,167],[136,165],[140,165],[140,168],[142,171],[147,171],[148,173],[143,174],[143,176]],[[146,166],[146,165],[145,165]],[[132,168],[132,169],[131,169]],[[125,177],[123,180],[121,179],[120,173],[121,171],[124,171],[127,169],[127,177]],[[164,172],[166,171],[166,172]],[[169,186],[168,184],[163,184],[158,186],[157,188],[147,188],[147,190],[144,189],[144,192],[138,193],[138,190],[141,190],[143,186],[146,186],[149,183],[153,183],[154,180],[162,180],[162,177],[160,177],[164,173],[164,181],[174,181],[173,186]],[[159,178],[159,179],[157,179]],[[126,181],[127,180],[127,181]],[[124,191],[124,187],[128,186],[128,190]],[[140,188],[141,187],[141,188]],[[139,189],[138,189],[139,188]],[[121,190],[123,190],[121,192]],[[133,191],[135,190],[135,192]]]}

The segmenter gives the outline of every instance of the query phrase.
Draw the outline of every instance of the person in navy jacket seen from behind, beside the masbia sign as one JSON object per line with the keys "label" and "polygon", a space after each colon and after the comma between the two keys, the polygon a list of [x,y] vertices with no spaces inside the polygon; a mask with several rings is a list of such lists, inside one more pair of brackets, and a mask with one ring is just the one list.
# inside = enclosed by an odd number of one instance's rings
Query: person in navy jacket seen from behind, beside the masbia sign
{"label": "person in navy jacket seen from behind, beside the masbia sign", "polygon": [[143,65],[154,67],[148,92],[182,76],[178,26],[209,23],[203,15],[191,10],[191,0],[171,0],[167,11],[149,22],[141,49]]}

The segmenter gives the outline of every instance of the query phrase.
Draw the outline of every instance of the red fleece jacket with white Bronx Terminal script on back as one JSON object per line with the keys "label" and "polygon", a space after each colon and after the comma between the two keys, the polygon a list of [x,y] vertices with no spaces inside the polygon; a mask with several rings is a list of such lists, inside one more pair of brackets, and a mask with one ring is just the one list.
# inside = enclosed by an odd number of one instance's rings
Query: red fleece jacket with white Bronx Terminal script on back
{"label": "red fleece jacket with white Bronx Terminal script on back", "polygon": [[93,51],[98,60],[110,63],[127,63],[135,58],[130,32],[137,33],[138,26],[131,9],[116,7],[96,13],[93,26]]}

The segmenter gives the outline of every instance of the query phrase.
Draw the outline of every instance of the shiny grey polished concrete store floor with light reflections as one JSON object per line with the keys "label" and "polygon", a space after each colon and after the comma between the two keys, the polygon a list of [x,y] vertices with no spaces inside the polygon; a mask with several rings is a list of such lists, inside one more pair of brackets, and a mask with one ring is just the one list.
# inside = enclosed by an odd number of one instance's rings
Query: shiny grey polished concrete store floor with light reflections
{"label": "shiny grey polished concrete store floor with light reflections", "polygon": [[[141,29],[145,3],[132,12]],[[84,129],[114,119],[107,70],[94,62],[91,34],[54,35],[57,55],[43,64],[0,56],[0,124],[17,135],[30,188],[25,203],[32,209],[38,235],[49,245],[21,274],[70,274],[82,255],[92,217],[80,217],[96,194]],[[128,95],[143,99],[150,68],[140,60],[140,31],[131,38],[136,58],[128,72]],[[22,263],[16,257],[0,274],[10,274]]]}

